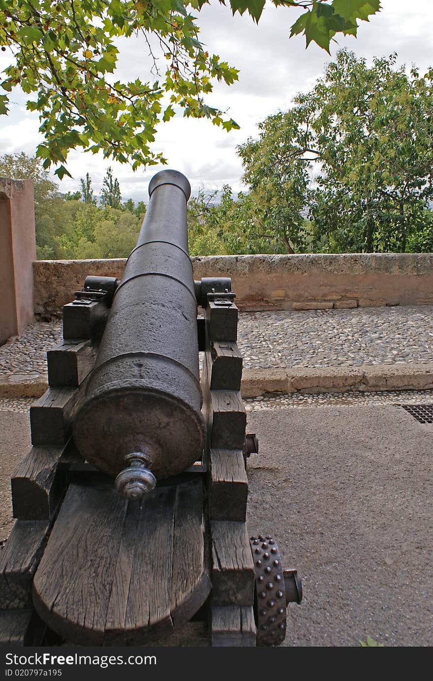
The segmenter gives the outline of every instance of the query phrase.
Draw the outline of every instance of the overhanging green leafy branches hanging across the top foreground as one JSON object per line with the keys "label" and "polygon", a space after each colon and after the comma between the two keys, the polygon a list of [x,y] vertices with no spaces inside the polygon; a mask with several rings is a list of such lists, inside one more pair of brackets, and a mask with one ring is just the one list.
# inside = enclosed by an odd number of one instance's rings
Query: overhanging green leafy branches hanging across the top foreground
{"label": "overhanging green leafy branches hanging across the top foreground", "polygon": [[[73,148],[139,165],[164,162],[151,151],[158,123],[175,115],[207,117],[226,130],[238,127],[205,97],[213,81],[230,85],[237,69],[207,52],[198,39],[198,12],[209,0],[0,0],[0,45],[11,50],[1,83],[0,114],[20,85],[27,108],[40,115],[45,141],[37,155],[44,168],[57,165],[61,179]],[[224,3],[224,0],[220,0]],[[233,14],[249,12],[258,22],[265,0],[229,0]],[[301,8],[291,35],[304,33],[329,50],[336,33],[356,35],[357,22],[380,9],[379,0],[273,0]],[[140,35],[151,52],[153,82],[116,80],[119,37]],[[160,52],[154,52],[154,45]],[[158,57],[166,57],[161,72]]]}

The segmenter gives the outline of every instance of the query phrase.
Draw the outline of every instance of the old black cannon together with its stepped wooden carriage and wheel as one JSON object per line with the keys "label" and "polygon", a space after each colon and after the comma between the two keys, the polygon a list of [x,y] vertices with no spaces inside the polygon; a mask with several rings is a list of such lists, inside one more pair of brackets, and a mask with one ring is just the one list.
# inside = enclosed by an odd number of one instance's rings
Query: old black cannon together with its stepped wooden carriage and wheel
{"label": "old black cannon together with its stepped wooden carriage and wheel", "polygon": [[199,627],[211,646],[273,646],[301,601],[275,538],[248,537],[238,310],[230,279],[194,281],[189,197],[156,174],[121,281],[87,276],[63,308],[11,480],[2,644],[182,645]]}

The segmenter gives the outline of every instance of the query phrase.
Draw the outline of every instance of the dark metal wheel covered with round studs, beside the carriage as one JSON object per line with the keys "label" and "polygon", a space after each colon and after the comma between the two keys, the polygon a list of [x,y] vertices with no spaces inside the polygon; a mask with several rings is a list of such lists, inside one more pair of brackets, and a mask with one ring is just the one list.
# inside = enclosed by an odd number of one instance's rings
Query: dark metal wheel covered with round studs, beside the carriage
{"label": "dark metal wheel covered with round studs, beside the carriage", "polygon": [[254,615],[258,646],[279,646],[286,637],[286,590],[278,545],[272,537],[250,538],[256,588]]}

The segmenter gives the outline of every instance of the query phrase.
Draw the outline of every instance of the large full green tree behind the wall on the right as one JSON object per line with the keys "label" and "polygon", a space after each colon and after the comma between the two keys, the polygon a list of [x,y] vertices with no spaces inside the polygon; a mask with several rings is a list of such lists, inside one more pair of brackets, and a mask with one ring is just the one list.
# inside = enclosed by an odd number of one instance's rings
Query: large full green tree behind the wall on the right
{"label": "large full green tree behind the wall on the right", "polygon": [[328,251],[415,244],[433,197],[433,69],[407,74],[396,58],[368,67],[340,50],[310,93],[239,148],[262,224],[280,240],[285,229],[293,249],[308,238]]}

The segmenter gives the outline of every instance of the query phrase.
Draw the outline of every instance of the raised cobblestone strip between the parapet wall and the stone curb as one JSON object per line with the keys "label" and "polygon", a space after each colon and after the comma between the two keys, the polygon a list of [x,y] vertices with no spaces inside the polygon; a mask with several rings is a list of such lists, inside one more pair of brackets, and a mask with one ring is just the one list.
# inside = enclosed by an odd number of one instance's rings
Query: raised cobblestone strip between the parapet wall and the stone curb
{"label": "raised cobblestone strip between the parapet wall and the stone curb", "polygon": [[[0,347],[0,378],[46,377],[61,321],[36,322]],[[433,306],[240,313],[245,368],[433,362]]]}

